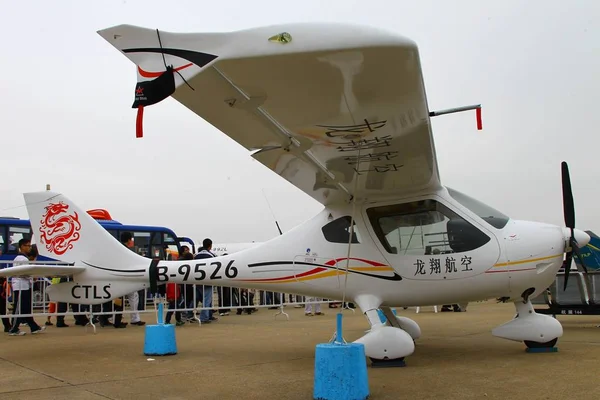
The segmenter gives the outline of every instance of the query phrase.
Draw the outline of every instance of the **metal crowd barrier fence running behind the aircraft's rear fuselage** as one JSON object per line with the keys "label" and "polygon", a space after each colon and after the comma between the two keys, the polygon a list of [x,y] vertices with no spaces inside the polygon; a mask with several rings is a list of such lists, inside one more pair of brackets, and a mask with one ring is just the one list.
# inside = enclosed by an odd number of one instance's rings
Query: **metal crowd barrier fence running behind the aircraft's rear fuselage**
{"label": "metal crowd barrier fence running behind the aircraft's rear fuselage", "polygon": [[[11,261],[7,263],[11,263]],[[8,278],[8,281],[10,279]],[[52,305],[46,293],[47,288],[52,284],[52,280],[49,278],[29,278],[29,281],[31,290],[21,293],[30,296],[32,310],[20,310],[19,304],[13,304],[14,293],[11,291],[6,299],[7,311],[5,314],[0,313],[0,318],[10,318],[13,322],[14,318],[17,317],[35,317],[44,318],[45,320],[48,320],[48,317],[73,317],[78,325],[90,325],[95,331],[96,323],[103,325],[107,323],[107,319],[110,317],[116,320],[117,315],[122,315],[123,322],[129,322],[126,321],[126,315],[131,315],[134,318],[133,314],[135,313],[156,314],[158,301],[164,302],[165,316],[173,323],[176,320],[202,323],[208,320],[211,314],[213,318],[214,314],[225,315],[234,311],[236,314],[252,314],[260,308],[277,310],[274,314],[275,317],[284,315],[286,319],[289,319],[289,314],[285,312],[287,306],[306,307],[306,311],[312,313],[315,312],[316,305],[321,307],[342,306],[341,299],[321,299],[257,289],[169,284],[171,286],[159,286],[160,297],[157,299],[153,298],[147,289],[142,289],[120,298],[121,302],[115,299],[93,306],[62,303],[61,308],[66,311],[58,312],[58,304]],[[69,281],[69,279],[65,281]],[[175,291],[175,287],[177,291]],[[212,304],[205,306],[205,303],[208,304],[210,301],[212,301]],[[307,305],[310,306],[307,307]],[[346,308],[350,308],[348,304],[346,304]],[[80,321],[85,321],[85,323],[78,323]]]}

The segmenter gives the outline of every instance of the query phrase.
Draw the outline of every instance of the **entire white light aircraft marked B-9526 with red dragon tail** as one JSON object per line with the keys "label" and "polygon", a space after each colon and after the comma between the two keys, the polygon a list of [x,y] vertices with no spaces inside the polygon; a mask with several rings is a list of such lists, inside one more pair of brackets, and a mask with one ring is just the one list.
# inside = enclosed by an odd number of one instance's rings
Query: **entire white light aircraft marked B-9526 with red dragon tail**
{"label": "entire white light aircraft marked B-9526 with red dragon tail", "polygon": [[136,65],[138,136],[144,107],[172,95],[324,208],[233,254],[151,261],[62,194],[26,193],[40,253],[73,265],[1,275],[72,275],[48,289],[50,299],[87,304],[165,282],[332,299],[345,290],[371,325],[357,342],[378,364],[412,354],[421,335],[390,307],[496,298],[517,314],[493,335],[528,347],[562,336],[530,299],[554,281],[565,253],[570,264],[589,241],[574,229],[566,164],[566,228],[513,220],[442,186],[430,118],[444,112],[428,109],[413,41],[346,24],[189,34],[120,25],[99,34]]}

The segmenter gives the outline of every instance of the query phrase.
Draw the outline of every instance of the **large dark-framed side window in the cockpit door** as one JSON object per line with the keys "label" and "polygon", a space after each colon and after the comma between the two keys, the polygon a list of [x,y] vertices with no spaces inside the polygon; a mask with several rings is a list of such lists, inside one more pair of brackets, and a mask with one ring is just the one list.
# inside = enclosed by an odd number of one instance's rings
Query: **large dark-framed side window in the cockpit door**
{"label": "large dark-framed side window in the cockpit door", "polygon": [[435,200],[367,209],[373,229],[388,253],[451,254],[475,250],[490,237]]}

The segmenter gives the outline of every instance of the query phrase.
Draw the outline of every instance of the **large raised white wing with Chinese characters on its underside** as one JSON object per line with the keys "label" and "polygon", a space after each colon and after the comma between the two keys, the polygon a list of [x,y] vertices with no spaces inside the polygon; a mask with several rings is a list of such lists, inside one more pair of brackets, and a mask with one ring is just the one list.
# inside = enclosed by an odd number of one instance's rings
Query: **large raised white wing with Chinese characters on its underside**
{"label": "large raised white wing with Chinese characters on its underside", "polygon": [[440,185],[407,38],[347,24],[98,33],[137,65],[138,95],[172,66],[176,100],[322,204]]}

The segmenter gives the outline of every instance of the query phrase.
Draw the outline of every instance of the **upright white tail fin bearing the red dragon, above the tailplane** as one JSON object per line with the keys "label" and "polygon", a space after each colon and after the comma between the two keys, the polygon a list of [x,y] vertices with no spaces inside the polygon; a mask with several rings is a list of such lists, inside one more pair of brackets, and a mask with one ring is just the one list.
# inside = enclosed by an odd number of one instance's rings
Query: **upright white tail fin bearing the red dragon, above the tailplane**
{"label": "upright white tail fin bearing the red dragon, above the tailplane", "polygon": [[44,191],[23,196],[40,255],[119,270],[148,264],[62,194]]}

